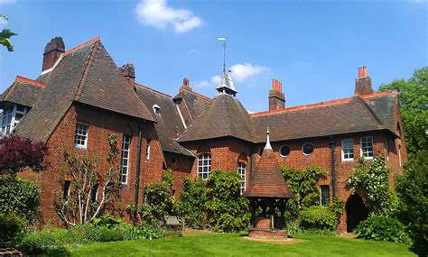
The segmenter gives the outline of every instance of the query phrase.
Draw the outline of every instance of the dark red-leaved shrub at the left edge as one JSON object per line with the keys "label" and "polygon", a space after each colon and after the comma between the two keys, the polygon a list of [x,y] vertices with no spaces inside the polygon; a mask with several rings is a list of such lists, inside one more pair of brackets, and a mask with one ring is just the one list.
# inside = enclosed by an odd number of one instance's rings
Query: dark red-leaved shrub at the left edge
{"label": "dark red-leaved shrub at the left edge", "polygon": [[35,172],[44,170],[43,161],[48,148],[43,142],[32,142],[28,138],[8,135],[0,138],[0,175],[16,177],[20,171],[30,168]]}

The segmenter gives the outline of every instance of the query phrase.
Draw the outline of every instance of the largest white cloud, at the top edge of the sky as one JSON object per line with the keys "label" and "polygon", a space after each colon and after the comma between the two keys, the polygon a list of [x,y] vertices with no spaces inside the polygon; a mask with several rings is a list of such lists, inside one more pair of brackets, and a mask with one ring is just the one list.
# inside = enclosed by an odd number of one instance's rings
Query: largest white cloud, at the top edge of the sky
{"label": "largest white cloud, at the top edge of the sky", "polygon": [[202,24],[202,19],[190,10],[174,9],[167,5],[166,0],[142,0],[136,5],[135,12],[140,23],[160,29],[171,24],[177,33],[190,31]]}

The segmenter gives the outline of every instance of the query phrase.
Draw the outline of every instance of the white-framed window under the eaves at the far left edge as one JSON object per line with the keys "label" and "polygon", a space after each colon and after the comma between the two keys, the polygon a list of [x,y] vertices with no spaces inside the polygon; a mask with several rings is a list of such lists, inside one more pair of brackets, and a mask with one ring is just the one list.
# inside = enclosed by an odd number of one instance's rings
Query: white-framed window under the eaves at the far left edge
{"label": "white-framed window under the eaves at the far left edge", "polygon": [[28,109],[26,106],[14,105],[7,106],[1,113],[0,119],[0,134],[9,134],[14,131],[17,124],[23,119],[23,116],[27,113]]}

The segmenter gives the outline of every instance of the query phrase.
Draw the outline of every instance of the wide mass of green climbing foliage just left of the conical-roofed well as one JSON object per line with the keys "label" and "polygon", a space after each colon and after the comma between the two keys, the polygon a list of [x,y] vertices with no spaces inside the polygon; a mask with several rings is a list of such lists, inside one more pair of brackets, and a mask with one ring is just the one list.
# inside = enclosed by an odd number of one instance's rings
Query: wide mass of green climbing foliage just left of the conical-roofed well
{"label": "wide mass of green climbing foliage just left of the conical-roofed well", "polygon": [[240,195],[237,171],[214,170],[206,181],[185,179],[181,201],[185,221],[192,227],[211,227],[218,232],[247,227],[247,199]]}

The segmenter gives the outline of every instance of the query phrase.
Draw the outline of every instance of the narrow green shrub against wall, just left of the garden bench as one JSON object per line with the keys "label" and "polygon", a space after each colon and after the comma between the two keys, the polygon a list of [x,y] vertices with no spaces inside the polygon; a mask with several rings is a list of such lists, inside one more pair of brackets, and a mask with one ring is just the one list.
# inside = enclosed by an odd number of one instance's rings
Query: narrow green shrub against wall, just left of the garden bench
{"label": "narrow green shrub against wall, just left of the garden bench", "polygon": [[172,174],[163,173],[162,182],[154,182],[145,188],[145,204],[140,208],[140,216],[144,224],[160,225],[164,216],[176,214],[175,201],[172,197]]}

